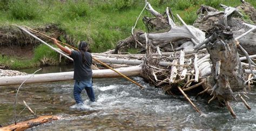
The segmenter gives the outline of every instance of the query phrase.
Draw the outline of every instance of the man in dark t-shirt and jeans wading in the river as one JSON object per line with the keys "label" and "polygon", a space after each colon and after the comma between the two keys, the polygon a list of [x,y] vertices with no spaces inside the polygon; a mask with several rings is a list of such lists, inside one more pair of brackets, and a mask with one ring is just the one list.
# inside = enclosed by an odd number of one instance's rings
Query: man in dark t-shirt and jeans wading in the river
{"label": "man in dark t-shirt and jeans wading in the river", "polygon": [[95,101],[95,94],[92,88],[92,56],[88,50],[88,44],[84,41],[79,44],[79,51],[71,51],[68,48],[63,47],[58,44],[55,38],[52,38],[53,43],[56,44],[60,50],[69,54],[69,56],[74,60],[74,91],[73,95],[76,100],[76,104],[82,105],[84,102],[81,98],[81,92],[85,89],[90,101]]}

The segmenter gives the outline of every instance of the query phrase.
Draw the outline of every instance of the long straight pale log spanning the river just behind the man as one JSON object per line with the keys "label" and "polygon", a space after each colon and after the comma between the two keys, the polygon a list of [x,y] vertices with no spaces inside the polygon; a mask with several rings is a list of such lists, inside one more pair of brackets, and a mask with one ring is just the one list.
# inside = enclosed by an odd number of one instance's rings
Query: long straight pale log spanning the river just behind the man
{"label": "long straight pale log spanning the river just behind the man", "polygon": [[[141,70],[142,70],[142,67],[140,66],[117,68],[117,71],[127,76],[138,76],[141,74]],[[21,84],[28,77],[30,76],[19,75],[15,77],[1,77],[0,86]],[[93,78],[113,78],[113,77],[121,77],[121,76],[118,73],[113,72],[112,70],[105,69],[105,70],[93,70],[92,77]],[[25,81],[24,84],[52,82],[52,81],[65,81],[65,80],[73,80],[73,72],[35,74],[33,75],[33,77]]]}

